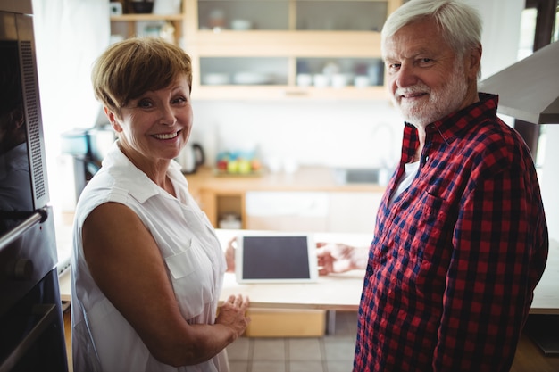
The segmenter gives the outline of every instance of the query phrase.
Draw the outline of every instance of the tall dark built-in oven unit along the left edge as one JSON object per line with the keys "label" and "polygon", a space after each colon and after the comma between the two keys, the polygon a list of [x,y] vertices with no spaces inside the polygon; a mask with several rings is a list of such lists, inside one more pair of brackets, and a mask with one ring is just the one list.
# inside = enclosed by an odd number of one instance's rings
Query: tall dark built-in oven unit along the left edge
{"label": "tall dark built-in oven unit along the left edge", "polygon": [[0,372],[68,371],[31,0],[0,2]]}

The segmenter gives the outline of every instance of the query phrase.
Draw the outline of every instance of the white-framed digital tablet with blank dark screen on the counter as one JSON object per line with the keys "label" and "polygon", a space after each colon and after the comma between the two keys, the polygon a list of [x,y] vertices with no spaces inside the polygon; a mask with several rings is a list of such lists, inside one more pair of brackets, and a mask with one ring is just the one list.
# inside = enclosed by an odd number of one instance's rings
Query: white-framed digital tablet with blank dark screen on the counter
{"label": "white-framed digital tablet with blank dark screen on the counter", "polygon": [[312,283],[318,278],[313,236],[241,233],[237,236],[238,283]]}

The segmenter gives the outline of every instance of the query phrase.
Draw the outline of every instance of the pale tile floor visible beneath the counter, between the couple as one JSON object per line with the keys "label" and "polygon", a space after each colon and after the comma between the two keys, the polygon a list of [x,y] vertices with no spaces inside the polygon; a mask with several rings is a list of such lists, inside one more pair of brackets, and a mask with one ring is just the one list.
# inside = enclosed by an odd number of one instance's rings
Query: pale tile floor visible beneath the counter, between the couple
{"label": "pale tile floor visible beneath the counter, between the couple", "polygon": [[241,337],[227,348],[231,372],[349,372],[353,367],[357,313],[336,312],[323,337]]}

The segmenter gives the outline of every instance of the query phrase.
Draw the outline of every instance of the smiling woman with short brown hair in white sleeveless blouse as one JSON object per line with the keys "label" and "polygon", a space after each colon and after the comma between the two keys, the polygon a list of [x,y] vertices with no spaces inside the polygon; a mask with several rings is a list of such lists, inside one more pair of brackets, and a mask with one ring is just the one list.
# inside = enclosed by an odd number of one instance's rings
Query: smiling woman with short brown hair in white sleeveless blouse
{"label": "smiling woman with short brown hair in white sleeveless blouse", "polygon": [[229,297],[216,317],[225,258],[173,161],[193,122],[190,58],[131,38],[99,57],[92,80],[117,140],[76,207],[74,370],[228,371],[248,300]]}

